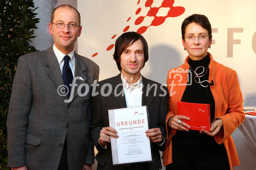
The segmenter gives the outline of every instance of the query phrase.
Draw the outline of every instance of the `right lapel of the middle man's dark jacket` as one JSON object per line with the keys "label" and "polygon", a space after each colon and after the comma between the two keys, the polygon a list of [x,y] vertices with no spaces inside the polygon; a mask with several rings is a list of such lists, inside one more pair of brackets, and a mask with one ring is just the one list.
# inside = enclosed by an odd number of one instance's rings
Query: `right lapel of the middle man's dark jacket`
{"label": "right lapel of the middle man's dark jacket", "polygon": [[[144,78],[142,76],[142,106],[147,105],[148,108],[150,108],[154,98],[154,90],[155,86],[153,86],[151,89],[150,87],[152,84],[148,81],[148,79]],[[154,85],[154,84],[153,84]],[[147,89],[150,89],[149,91]]]}

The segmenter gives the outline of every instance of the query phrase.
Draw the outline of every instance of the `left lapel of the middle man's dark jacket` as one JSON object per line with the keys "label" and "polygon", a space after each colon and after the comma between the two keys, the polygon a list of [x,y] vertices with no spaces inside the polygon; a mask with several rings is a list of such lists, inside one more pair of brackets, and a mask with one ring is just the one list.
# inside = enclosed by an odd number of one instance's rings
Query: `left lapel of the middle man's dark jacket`
{"label": "left lapel of the middle man's dark jacket", "polygon": [[[114,100],[116,103],[120,106],[120,108],[126,108],[126,101],[123,91],[123,83],[121,80],[121,73],[114,77],[113,82],[111,82],[113,85],[112,93]],[[118,95],[117,95],[118,94]]]}

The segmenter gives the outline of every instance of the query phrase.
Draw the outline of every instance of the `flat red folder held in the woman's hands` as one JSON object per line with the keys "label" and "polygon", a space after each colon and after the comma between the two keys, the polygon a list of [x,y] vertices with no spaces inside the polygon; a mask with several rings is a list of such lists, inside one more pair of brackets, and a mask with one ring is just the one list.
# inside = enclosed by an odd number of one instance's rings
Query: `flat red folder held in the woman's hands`
{"label": "flat red folder held in the woman's hands", "polygon": [[184,115],[190,120],[182,119],[191,130],[210,131],[210,105],[200,103],[177,102],[178,115]]}

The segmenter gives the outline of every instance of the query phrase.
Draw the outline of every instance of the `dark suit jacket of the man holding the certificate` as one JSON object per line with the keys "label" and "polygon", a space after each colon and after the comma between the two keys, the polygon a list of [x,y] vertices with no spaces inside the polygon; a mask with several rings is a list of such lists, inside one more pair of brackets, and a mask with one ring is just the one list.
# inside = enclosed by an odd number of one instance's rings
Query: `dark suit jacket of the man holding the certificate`
{"label": "dark suit jacket of the man holding the certificate", "polygon": [[[110,95],[102,96],[100,91],[104,89],[104,94],[108,93],[109,88],[102,88],[102,85],[109,83],[112,85],[113,89]],[[120,85],[121,84],[121,85]],[[160,128],[163,137],[166,138],[166,127],[165,127],[165,118],[168,107],[168,90],[165,86],[161,86],[161,84],[154,82],[152,80],[146,79],[142,77],[142,106],[147,105],[148,114],[149,114],[149,128]],[[151,88],[147,90],[148,87],[152,85],[157,85],[156,89]],[[161,87],[160,87],[161,86]],[[115,91],[116,88],[116,91]],[[92,115],[92,123],[91,123],[91,138],[93,144],[96,146],[99,151],[96,155],[96,160],[98,161],[97,169],[115,169],[121,170],[124,169],[124,165],[113,166],[112,162],[112,153],[111,153],[111,144],[107,144],[107,149],[103,149],[100,144],[98,144],[98,139],[100,135],[100,130],[103,127],[109,127],[109,114],[108,109],[115,108],[125,108],[126,101],[125,96],[119,95],[115,96],[114,93],[119,94],[123,90],[121,75],[119,74],[116,77],[112,77],[110,79],[106,79],[99,82],[99,86],[97,88],[98,95],[93,96],[93,115]],[[164,94],[165,95],[162,95]],[[161,95],[159,95],[161,94]],[[154,162],[150,162],[146,168],[142,169],[159,169],[162,168],[161,160],[160,160],[160,151],[165,149],[165,143],[160,147],[157,143],[152,142],[152,152]],[[141,168],[140,168],[141,169]],[[141,170],[142,170],[141,169]]]}

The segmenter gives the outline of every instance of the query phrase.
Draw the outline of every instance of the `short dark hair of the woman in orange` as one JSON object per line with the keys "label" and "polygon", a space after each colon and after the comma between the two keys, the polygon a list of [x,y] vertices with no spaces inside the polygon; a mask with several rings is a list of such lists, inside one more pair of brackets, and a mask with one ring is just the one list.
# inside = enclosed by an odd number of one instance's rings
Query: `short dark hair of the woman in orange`
{"label": "short dark hair of the woman in orange", "polygon": [[185,40],[185,29],[189,23],[195,22],[199,24],[201,27],[206,29],[209,33],[209,39],[211,38],[211,26],[208,18],[205,15],[200,15],[200,14],[193,14],[184,19],[181,25],[181,34],[183,40]]}

